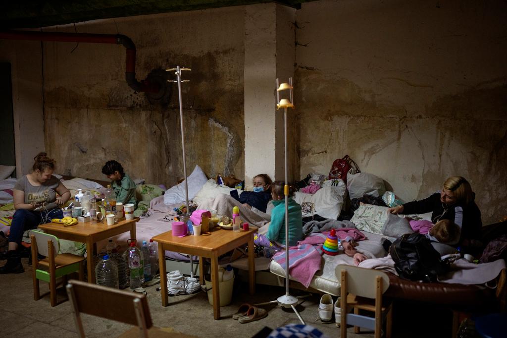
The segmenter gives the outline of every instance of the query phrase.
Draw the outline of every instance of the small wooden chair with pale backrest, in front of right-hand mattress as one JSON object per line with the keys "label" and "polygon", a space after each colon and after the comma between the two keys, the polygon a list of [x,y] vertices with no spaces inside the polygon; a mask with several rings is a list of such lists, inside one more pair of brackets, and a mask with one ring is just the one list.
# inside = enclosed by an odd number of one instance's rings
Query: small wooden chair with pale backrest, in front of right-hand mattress
{"label": "small wooden chair with pale backrest, in front of right-hand mattress", "polygon": [[[382,294],[389,287],[389,277],[378,270],[351,265],[338,265],[336,277],[341,280],[341,335],[347,337],[347,324],[354,325],[354,333],[359,327],[375,330],[375,338],[380,338],[382,322],[386,320],[386,337],[391,336],[392,304],[383,306]],[[347,295],[348,294],[348,295]],[[350,307],[354,313],[349,313]],[[375,317],[359,315],[359,310],[375,313]]]}

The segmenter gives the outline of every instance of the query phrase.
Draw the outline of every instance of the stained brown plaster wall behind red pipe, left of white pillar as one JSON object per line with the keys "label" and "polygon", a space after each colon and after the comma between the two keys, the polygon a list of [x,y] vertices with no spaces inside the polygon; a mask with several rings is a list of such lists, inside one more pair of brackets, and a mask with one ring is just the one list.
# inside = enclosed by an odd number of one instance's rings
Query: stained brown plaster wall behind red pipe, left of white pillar
{"label": "stained brown plaster wall behind red pipe, left of white pillar", "polygon": [[[198,164],[208,176],[243,176],[243,13],[233,7],[76,25],[131,38],[139,81],[175,65],[192,69],[182,84],[187,175]],[[131,177],[171,186],[183,178],[177,85],[170,84],[168,104],[150,104],[125,82],[125,54],[119,45],[44,43],[46,148],[62,174],[104,179],[102,165],[117,159]]]}

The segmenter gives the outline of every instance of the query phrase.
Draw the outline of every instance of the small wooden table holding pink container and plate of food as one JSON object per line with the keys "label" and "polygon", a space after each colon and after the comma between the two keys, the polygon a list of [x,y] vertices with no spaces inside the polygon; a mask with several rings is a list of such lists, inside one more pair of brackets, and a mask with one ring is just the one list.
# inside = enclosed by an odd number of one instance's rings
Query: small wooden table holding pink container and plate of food
{"label": "small wooden table holding pink container and plate of food", "polygon": [[167,277],[165,267],[165,250],[183,252],[199,256],[199,282],[204,284],[203,257],[211,259],[211,286],[213,292],[213,318],[220,319],[220,283],[219,283],[219,256],[231,251],[240,245],[248,243],[248,276],[249,292],[255,293],[255,253],[253,252],[253,233],[257,229],[233,232],[232,230],[215,229],[208,236],[188,235],[185,237],[173,236],[172,231],[156,235],[153,240],[158,242],[160,287],[162,306],[169,304],[167,297]]}

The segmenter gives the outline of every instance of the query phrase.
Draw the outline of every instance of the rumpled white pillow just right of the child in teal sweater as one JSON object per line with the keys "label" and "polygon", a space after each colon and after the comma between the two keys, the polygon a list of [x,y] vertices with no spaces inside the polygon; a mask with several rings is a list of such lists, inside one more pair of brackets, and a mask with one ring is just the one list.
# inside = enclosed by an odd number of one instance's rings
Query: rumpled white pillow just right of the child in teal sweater
{"label": "rumpled white pillow just right of the child in teal sweater", "polygon": [[[336,186],[323,186],[313,194],[297,191],[294,200],[300,205],[304,202],[312,202],[314,214],[324,218],[337,219],[343,206],[343,200],[347,187],[343,180],[338,180]],[[311,211],[303,211],[303,217],[312,216]]]}

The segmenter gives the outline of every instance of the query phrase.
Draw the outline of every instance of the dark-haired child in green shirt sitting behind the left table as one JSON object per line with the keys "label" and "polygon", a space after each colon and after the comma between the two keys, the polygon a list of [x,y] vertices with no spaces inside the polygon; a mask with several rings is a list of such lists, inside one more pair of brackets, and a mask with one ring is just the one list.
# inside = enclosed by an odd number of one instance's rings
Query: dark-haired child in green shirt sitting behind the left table
{"label": "dark-haired child in green shirt sitting behind the left table", "polygon": [[135,183],[125,174],[123,166],[115,160],[107,161],[102,167],[102,174],[111,180],[111,187],[116,193],[116,201],[122,202],[123,205],[133,204],[135,208],[137,205]]}

